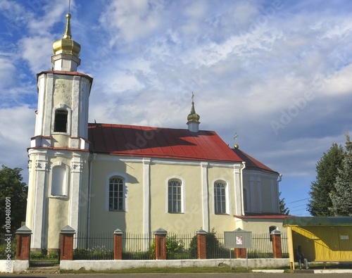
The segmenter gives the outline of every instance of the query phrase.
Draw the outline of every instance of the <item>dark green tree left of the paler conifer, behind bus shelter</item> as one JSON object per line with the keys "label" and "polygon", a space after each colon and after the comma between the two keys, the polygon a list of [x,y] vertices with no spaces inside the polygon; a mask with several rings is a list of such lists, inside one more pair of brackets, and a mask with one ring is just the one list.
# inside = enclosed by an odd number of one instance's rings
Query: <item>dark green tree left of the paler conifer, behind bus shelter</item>
{"label": "dark green tree left of the paler conifer, behind bus shelter", "polygon": [[324,153],[317,163],[316,181],[310,185],[310,201],[307,210],[313,216],[333,216],[332,200],[329,194],[335,191],[334,183],[338,169],[344,159],[344,149],[336,143],[332,144],[327,153]]}

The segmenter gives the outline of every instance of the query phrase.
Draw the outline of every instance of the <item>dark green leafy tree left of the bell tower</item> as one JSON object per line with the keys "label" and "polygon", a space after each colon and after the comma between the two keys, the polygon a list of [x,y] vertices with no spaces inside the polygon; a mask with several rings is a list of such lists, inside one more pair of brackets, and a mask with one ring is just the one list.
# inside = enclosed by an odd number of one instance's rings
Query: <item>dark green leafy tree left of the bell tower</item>
{"label": "dark green leafy tree left of the bell tower", "polygon": [[[2,232],[6,225],[13,232],[20,228],[21,222],[25,220],[27,206],[27,186],[22,182],[21,168],[8,168],[4,165],[0,170],[0,225]],[[6,218],[11,217],[11,223]],[[9,225],[10,224],[10,225]]]}

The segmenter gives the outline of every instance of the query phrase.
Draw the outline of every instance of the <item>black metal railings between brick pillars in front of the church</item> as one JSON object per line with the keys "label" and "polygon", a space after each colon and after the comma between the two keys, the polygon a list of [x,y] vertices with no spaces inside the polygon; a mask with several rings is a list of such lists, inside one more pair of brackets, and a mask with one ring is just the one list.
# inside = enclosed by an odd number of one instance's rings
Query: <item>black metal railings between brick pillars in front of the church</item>
{"label": "black metal railings between brick pillars in front of the church", "polygon": [[[74,237],[74,260],[113,260],[113,234],[98,234]],[[289,257],[287,234],[282,234],[282,255]],[[253,248],[247,249],[248,258],[273,258],[272,241],[269,234],[252,234]],[[166,236],[166,258],[196,259],[196,234],[168,234]],[[206,235],[207,258],[234,258],[234,251],[224,247],[224,235],[210,232]],[[122,236],[123,260],[155,259],[154,235],[128,234]]]}

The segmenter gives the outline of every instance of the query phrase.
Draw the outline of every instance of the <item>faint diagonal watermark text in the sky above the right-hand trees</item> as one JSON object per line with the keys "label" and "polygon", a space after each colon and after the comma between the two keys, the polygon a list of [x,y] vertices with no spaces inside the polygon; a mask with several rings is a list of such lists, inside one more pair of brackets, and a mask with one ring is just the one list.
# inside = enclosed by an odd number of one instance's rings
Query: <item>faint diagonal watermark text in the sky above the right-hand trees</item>
{"label": "faint diagonal watermark text in the sky above the right-hand trees", "polygon": [[308,101],[312,101],[315,95],[312,91],[306,91],[303,94],[303,97],[298,99],[292,99],[292,105],[287,108],[287,110],[281,109],[281,116],[278,121],[271,120],[270,125],[272,130],[274,130],[275,135],[279,134],[279,129],[286,127],[292,121],[293,118],[296,118],[298,114],[306,108]]}

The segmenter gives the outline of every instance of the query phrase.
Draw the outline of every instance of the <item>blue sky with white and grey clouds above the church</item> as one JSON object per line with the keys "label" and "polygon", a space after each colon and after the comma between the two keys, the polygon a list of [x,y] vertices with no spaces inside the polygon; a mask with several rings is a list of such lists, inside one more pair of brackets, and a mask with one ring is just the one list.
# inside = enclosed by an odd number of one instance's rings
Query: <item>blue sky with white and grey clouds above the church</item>
{"label": "blue sky with white and grey clouds above the church", "polygon": [[[68,1],[0,0],[0,164],[23,168],[36,74],[51,68]],[[282,173],[293,215],[315,165],[352,129],[352,1],[71,1],[89,121],[215,130]],[[166,116],[165,116],[166,115]]]}

